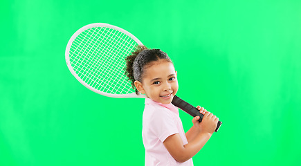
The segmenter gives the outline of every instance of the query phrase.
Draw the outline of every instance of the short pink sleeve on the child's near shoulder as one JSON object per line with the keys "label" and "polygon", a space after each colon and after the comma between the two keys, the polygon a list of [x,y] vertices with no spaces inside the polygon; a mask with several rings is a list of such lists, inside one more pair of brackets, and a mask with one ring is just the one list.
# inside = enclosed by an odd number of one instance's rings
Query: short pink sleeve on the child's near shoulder
{"label": "short pink sleeve on the child's near shoulder", "polygon": [[174,118],[172,118],[172,114],[169,110],[156,110],[153,114],[151,124],[152,131],[154,131],[161,142],[164,142],[167,137],[179,133],[176,122]]}

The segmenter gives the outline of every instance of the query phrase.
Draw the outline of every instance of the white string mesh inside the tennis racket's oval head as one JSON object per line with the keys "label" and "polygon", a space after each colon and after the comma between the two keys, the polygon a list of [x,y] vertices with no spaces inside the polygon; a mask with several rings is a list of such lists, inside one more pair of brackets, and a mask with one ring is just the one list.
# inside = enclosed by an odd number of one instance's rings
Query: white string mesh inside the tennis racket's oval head
{"label": "white string mesh inside the tennis racket's oval head", "polygon": [[125,57],[137,46],[134,39],[110,28],[91,29],[78,35],[71,46],[71,64],[75,73],[100,91],[134,93],[123,71]]}

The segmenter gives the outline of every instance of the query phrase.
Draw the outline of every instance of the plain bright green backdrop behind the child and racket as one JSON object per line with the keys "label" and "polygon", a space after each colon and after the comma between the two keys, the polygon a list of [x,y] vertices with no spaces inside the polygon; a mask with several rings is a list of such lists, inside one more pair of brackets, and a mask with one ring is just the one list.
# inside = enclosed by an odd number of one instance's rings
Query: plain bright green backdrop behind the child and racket
{"label": "plain bright green backdrop behind the child and racket", "polygon": [[0,165],[144,165],[144,100],[98,95],[66,66],[71,35],[95,22],[164,50],[178,95],[224,122],[194,165],[301,165],[301,1],[4,0],[0,13]]}

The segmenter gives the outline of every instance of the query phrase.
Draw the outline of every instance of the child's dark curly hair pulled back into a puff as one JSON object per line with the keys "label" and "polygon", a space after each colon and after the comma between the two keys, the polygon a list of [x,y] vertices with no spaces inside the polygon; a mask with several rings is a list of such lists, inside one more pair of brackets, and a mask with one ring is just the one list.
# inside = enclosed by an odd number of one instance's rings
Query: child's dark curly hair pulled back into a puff
{"label": "child's dark curly hair pulled back into a puff", "polygon": [[168,57],[167,53],[164,53],[160,49],[148,49],[145,46],[138,46],[136,50],[125,58],[127,63],[125,75],[127,75],[136,94],[138,94],[138,90],[136,89],[134,82],[136,80],[142,82],[145,68],[152,66],[152,62],[156,62],[160,59],[165,59],[167,62],[172,63],[172,60]]}

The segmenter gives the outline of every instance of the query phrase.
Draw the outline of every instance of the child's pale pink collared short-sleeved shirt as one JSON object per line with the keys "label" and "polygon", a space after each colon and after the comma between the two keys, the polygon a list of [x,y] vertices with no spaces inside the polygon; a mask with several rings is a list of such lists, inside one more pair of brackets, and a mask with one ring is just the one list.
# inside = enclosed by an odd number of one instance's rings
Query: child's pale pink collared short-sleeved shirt
{"label": "child's pale pink collared short-sleeved shirt", "polygon": [[142,130],[145,166],[193,165],[192,158],[184,163],[177,162],[163,145],[164,140],[174,133],[179,133],[183,145],[188,143],[179,117],[179,109],[173,104],[162,104],[146,98]]}

